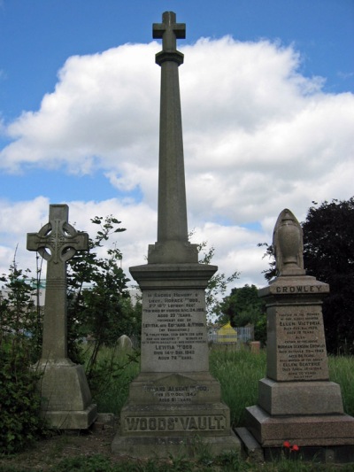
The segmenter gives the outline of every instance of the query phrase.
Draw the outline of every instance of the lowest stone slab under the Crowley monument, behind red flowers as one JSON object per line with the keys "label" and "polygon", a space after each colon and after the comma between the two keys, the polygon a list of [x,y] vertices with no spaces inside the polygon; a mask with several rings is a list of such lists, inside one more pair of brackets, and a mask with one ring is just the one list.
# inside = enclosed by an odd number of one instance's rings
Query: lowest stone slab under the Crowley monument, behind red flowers
{"label": "lowest stone slab under the Crowley monument, behind red flowers", "polygon": [[354,445],[354,418],[348,414],[272,416],[249,406],[245,423],[263,448],[282,447],[284,441],[299,447]]}

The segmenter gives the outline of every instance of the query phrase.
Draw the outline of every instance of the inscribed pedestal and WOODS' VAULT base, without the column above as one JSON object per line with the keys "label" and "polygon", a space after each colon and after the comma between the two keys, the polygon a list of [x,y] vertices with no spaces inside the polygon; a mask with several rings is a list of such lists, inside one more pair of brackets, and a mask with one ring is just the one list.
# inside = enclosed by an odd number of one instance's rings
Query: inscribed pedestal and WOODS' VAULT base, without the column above
{"label": "inscribed pedestal and WOODS' VAULT base, without the column above", "polygon": [[131,267],[142,289],[141,373],[130,385],[112,450],[146,457],[210,453],[240,445],[209,373],[205,288],[217,267]]}

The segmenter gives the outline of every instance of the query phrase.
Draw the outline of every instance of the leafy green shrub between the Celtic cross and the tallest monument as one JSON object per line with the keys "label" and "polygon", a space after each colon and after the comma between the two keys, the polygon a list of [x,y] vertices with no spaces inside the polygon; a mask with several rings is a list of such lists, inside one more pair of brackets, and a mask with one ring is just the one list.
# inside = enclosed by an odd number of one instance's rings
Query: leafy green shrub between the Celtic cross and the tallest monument
{"label": "leafy green shrub between the Celtic cross and the tallest monument", "polygon": [[[87,366],[87,375],[94,376],[97,355],[103,345],[113,345],[122,334],[139,336],[141,307],[133,306],[127,290],[127,279],[117,247],[98,257],[97,250],[112,234],[125,231],[112,215],[91,220],[99,226],[94,239],[89,238],[89,252],[77,252],[68,262],[68,339],[69,352],[77,360],[76,341],[81,337],[94,339]],[[80,359],[79,359],[80,360]]]}

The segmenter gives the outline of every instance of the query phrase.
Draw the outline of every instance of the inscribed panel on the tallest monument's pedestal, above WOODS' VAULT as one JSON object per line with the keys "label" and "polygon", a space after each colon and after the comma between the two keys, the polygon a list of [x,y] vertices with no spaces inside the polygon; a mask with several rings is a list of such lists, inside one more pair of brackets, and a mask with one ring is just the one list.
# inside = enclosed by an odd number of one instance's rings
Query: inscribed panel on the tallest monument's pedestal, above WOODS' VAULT
{"label": "inscribed panel on the tallest monument's pedestal, above WOODS' VAULT", "polygon": [[144,290],[142,372],[208,368],[204,290]]}

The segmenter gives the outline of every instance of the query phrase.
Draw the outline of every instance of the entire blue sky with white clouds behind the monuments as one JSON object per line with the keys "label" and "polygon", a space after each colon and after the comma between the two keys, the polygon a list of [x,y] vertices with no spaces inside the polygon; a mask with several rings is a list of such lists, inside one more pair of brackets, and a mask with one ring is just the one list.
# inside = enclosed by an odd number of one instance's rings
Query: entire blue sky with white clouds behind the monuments
{"label": "entire blue sky with white clouds behind the monuments", "polygon": [[[160,67],[152,23],[186,23],[179,67],[189,231],[234,286],[266,285],[289,208],[353,196],[352,0],[0,0],[0,274],[49,205],[95,236],[114,215],[123,268],[157,238]],[[102,248],[102,254],[107,247]]]}

